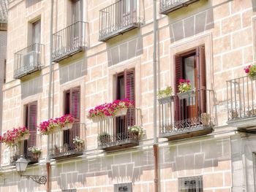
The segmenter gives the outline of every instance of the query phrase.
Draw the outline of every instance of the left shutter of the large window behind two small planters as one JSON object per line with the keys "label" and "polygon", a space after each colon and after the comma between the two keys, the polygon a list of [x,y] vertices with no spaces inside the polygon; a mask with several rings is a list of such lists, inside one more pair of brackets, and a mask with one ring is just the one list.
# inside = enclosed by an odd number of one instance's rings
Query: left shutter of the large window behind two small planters
{"label": "left shutter of the large window behind two small planters", "polygon": [[[174,56],[174,77],[175,80],[175,93],[178,93],[178,83],[179,80],[182,78],[182,57],[181,55],[175,55]],[[178,99],[178,96],[176,96],[175,99],[175,120],[181,120],[181,110],[180,110],[180,100]]]}

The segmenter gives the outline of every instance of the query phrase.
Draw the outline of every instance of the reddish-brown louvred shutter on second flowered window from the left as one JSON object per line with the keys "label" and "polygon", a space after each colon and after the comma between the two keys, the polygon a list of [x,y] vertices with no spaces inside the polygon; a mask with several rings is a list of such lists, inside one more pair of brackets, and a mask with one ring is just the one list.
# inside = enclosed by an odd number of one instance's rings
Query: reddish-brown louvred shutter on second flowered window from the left
{"label": "reddish-brown louvred shutter on second flowered window from the left", "polygon": [[69,144],[75,137],[80,137],[80,87],[70,89],[70,113],[75,122],[69,130]]}

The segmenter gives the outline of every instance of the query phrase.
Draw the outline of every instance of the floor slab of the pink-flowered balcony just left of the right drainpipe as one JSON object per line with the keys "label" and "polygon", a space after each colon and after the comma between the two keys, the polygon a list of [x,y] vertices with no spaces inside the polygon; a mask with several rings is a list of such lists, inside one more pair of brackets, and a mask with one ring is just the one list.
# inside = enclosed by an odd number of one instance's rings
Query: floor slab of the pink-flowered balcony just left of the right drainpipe
{"label": "floor slab of the pink-flowered balcony just left of the right drainpipe", "polygon": [[105,150],[105,151],[113,151],[113,150],[121,150],[126,149],[129,147],[135,147],[139,145],[139,141],[135,140],[122,140],[117,142],[110,142],[108,145],[99,145],[99,150]]}

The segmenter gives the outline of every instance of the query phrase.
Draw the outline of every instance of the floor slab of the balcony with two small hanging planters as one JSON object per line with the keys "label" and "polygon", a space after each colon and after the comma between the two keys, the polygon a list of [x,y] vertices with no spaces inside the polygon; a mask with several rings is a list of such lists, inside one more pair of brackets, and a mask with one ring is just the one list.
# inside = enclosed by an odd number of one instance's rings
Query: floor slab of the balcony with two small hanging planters
{"label": "floor slab of the balcony with two small hanging planters", "polygon": [[187,139],[190,137],[203,136],[211,134],[214,129],[212,126],[197,126],[196,128],[182,128],[181,130],[165,132],[159,135],[161,138],[167,138],[169,141],[175,141],[178,139]]}

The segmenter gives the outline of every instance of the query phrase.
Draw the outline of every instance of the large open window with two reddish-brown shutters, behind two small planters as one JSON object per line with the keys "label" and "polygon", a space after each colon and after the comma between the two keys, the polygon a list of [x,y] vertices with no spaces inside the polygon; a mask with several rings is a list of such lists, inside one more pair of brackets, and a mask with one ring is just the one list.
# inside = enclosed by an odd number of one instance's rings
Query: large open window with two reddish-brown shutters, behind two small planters
{"label": "large open window with two reddish-brown shutters, behind two small planters", "polygon": [[195,88],[195,97],[191,99],[176,99],[176,120],[200,117],[206,112],[206,58],[205,48],[196,47],[187,53],[175,55],[175,91],[178,93],[180,79],[190,80]]}

